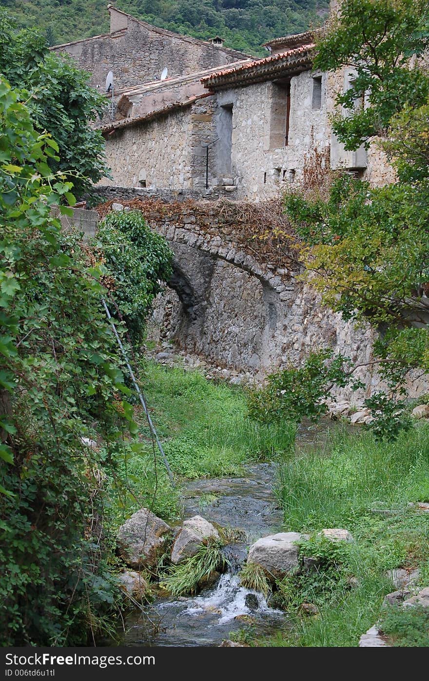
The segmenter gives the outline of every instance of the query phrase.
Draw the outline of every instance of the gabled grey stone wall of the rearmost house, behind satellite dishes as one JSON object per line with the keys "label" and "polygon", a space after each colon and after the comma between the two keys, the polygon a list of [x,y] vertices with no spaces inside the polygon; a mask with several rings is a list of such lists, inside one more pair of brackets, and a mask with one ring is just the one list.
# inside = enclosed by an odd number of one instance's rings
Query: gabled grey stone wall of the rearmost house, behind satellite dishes
{"label": "gabled grey stone wall of the rearmost house, behind satellite dishes", "polygon": [[182,76],[246,57],[236,50],[158,29],[113,8],[110,12],[117,15],[111,21],[110,34],[52,48],[71,54],[80,68],[91,72],[93,86],[103,92],[110,69],[119,92],[159,78],[165,66],[169,76]]}

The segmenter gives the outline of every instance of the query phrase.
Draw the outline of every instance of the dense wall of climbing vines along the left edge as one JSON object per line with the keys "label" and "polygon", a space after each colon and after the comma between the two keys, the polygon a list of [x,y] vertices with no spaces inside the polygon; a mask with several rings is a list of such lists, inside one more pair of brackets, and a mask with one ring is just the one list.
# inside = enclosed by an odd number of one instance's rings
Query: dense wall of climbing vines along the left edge
{"label": "dense wall of climbing vines along the left edge", "polygon": [[101,306],[105,270],[52,216],[73,185],[52,172],[59,146],[24,95],[0,80],[1,639],[78,645],[115,605],[104,493],[136,424]]}

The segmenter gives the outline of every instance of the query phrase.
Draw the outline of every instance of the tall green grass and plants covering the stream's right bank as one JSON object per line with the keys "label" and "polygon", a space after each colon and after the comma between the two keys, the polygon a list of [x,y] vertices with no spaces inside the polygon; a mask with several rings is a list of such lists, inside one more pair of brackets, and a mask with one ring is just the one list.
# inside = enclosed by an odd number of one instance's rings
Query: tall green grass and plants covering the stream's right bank
{"label": "tall green grass and plants covering the stream's right bank", "polygon": [[[285,530],[343,527],[355,541],[333,548],[331,555],[321,540],[319,546],[311,540],[313,549],[305,546],[306,555],[321,557],[321,566],[279,584],[278,598],[294,627],[259,645],[357,646],[360,635],[379,620],[385,594],[395,588],[388,570],[419,567],[417,586],[428,586],[429,513],[408,506],[428,499],[428,436],[428,424],[418,424],[393,444],[375,443],[366,433],[340,434],[330,456],[311,453],[281,464]],[[302,603],[317,605],[318,614],[302,616]]]}

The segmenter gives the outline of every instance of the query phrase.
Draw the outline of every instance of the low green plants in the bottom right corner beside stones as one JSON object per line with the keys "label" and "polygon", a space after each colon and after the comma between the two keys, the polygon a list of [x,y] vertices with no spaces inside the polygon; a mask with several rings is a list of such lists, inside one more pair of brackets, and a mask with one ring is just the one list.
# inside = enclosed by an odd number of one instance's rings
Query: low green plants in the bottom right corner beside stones
{"label": "low green plants in the bottom right corner beside stones", "polygon": [[390,607],[379,629],[394,648],[428,648],[429,610],[422,605]]}

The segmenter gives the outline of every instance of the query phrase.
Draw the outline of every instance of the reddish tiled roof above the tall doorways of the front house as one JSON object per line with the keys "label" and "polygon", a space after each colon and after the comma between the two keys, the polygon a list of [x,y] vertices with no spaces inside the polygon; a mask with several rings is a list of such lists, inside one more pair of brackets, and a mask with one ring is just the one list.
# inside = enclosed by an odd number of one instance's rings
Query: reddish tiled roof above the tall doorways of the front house
{"label": "reddish tiled roof above the tall doorways of the front house", "polygon": [[274,57],[255,59],[244,62],[236,67],[219,69],[215,74],[202,78],[206,88],[216,89],[236,84],[247,84],[268,80],[272,76],[299,73],[306,67],[311,67],[313,61],[314,43],[302,45],[293,50],[279,52]]}

